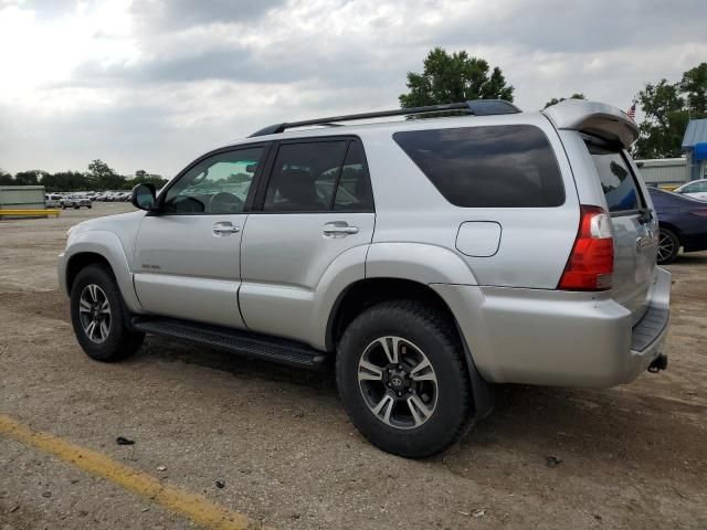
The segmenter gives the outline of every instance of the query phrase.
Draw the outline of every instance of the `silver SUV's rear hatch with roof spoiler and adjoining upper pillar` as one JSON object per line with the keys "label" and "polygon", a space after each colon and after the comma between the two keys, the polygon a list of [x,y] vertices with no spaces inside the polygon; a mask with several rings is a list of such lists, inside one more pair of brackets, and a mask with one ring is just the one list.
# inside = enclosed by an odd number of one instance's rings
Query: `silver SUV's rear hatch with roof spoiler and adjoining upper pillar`
{"label": "silver SUV's rear hatch with roof spoiler and adjoining upper pillar", "polygon": [[[632,312],[636,324],[648,306],[658,241],[653,203],[626,151],[637,139],[639,128],[626,113],[597,102],[567,99],[544,114],[560,132],[580,202],[605,208],[611,216],[611,296]],[[597,177],[588,179],[588,172]]]}

